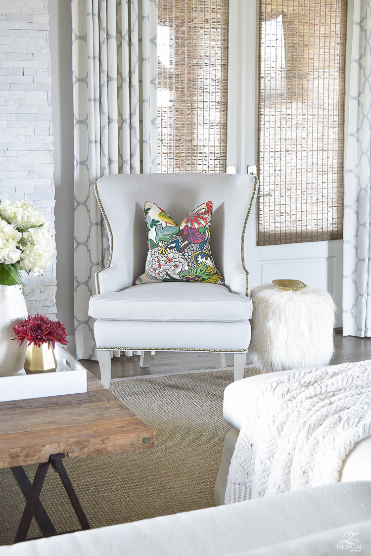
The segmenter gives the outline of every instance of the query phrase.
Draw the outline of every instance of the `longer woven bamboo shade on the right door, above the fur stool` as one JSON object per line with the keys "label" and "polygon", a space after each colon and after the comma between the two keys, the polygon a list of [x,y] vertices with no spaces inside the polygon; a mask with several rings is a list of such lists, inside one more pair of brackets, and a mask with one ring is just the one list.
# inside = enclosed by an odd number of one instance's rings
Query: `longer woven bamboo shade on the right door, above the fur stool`
{"label": "longer woven bamboo shade on the right door, above the fur stool", "polygon": [[260,1],[258,245],[341,239],[346,0]]}

